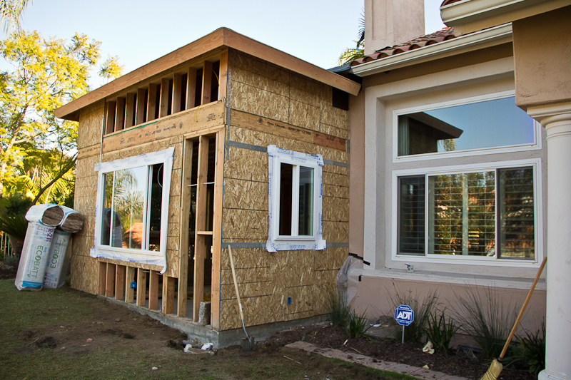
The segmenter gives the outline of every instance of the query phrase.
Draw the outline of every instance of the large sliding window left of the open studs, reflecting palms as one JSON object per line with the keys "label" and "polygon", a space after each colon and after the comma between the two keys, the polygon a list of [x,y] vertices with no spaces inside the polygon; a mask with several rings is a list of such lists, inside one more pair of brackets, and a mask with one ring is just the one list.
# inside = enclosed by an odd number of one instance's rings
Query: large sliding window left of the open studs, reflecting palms
{"label": "large sliding window left of the open studs, reflecting palms", "polygon": [[174,148],[96,164],[92,257],[166,268],[168,197]]}

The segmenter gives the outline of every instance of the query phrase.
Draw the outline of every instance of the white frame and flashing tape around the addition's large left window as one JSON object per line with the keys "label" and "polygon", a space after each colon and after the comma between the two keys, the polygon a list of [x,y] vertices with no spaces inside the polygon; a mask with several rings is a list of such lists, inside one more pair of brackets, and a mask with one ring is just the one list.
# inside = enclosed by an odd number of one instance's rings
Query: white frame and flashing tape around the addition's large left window
{"label": "white frame and flashing tape around the addition's large left window", "polygon": [[[94,248],[91,249],[91,257],[99,257],[112,260],[121,260],[126,262],[137,262],[140,264],[158,265],[163,269],[161,274],[166,270],[166,240],[168,230],[168,201],[171,190],[171,173],[173,168],[174,148],[167,148],[153,153],[136,155],[133,157],[122,158],[119,160],[108,161],[106,163],[96,163],[95,171],[97,175],[97,195],[95,207],[95,231],[94,231]],[[151,180],[149,180],[148,170],[157,164],[163,164],[163,187],[161,196],[161,232],[160,246],[158,251],[112,247],[111,245],[101,244],[101,217],[103,217],[103,188],[105,186],[105,174],[116,172],[118,170],[126,170],[132,168],[146,167],[146,194],[148,199],[151,189]],[[146,202],[148,206],[148,203]],[[150,208],[143,210],[143,224],[148,225]],[[148,242],[148,234],[146,242]],[[143,242],[143,245],[147,245]]]}

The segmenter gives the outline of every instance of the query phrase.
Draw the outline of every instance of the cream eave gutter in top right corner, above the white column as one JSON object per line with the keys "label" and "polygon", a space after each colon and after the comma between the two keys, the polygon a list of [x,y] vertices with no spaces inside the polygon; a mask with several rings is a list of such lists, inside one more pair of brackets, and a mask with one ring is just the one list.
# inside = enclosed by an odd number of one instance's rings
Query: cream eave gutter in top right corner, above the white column
{"label": "cream eave gutter in top right corner, above the white column", "polygon": [[506,24],[571,5],[571,0],[464,0],[440,8],[443,23],[455,34]]}

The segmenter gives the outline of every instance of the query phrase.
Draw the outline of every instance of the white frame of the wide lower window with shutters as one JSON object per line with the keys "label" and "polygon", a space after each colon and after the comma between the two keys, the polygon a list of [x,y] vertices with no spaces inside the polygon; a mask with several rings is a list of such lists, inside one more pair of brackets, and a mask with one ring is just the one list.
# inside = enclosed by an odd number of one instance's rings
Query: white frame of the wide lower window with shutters
{"label": "white frame of the wide lower window with shutters", "polygon": [[[453,259],[449,255],[398,255],[398,178],[407,175],[444,175],[458,173],[477,173],[485,170],[496,170],[498,168],[520,168],[522,166],[533,167],[533,196],[534,196],[534,229],[535,229],[535,260],[520,259],[500,259],[497,257],[461,257],[455,256]],[[392,231],[391,231],[391,258],[398,262],[428,262],[453,265],[486,265],[495,267],[538,267],[543,260],[543,205],[542,205],[542,168],[541,158],[528,160],[497,161],[492,163],[449,165],[435,168],[413,168],[405,170],[393,170],[392,173]],[[428,185],[425,191],[428,192]],[[496,195],[497,196],[497,195]],[[428,197],[426,198],[428,199]],[[425,206],[426,207],[426,206]],[[497,207],[497,202],[496,202]],[[425,222],[428,228],[428,222]],[[497,230],[497,227],[496,227]],[[496,240],[497,240],[497,233]],[[428,233],[425,233],[425,239]],[[425,250],[428,245],[425,242]],[[496,244],[497,247],[497,244]],[[425,251],[426,252],[426,251]]]}

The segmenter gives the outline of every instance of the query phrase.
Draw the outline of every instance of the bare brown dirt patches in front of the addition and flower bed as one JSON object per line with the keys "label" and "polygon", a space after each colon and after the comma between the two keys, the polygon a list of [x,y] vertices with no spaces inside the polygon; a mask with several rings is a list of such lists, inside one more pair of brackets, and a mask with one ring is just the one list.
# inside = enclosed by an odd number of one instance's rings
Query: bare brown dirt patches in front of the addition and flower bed
{"label": "bare brown dirt patches in front of the addition and flower bed", "polygon": [[[0,269],[0,278],[4,279],[10,276],[10,273]],[[105,305],[98,310],[94,309],[92,317],[80,322],[63,325],[56,322],[46,327],[25,329],[19,332],[19,339],[21,339],[22,344],[14,351],[14,354],[31,354],[39,349],[57,348],[62,354],[78,356],[133,345],[136,345],[138,349],[153,352],[159,356],[168,356],[173,349],[183,350],[182,341],[186,339],[186,336],[178,330],[166,327],[150,317],[132,312],[119,305],[110,304],[106,300],[98,299],[91,294],[79,294],[80,297],[93,298],[94,302]],[[343,329],[330,327],[327,324],[305,328],[298,327],[297,329],[279,332],[266,341],[256,342],[253,352],[243,353],[239,346],[232,346],[217,350],[216,355],[213,356],[203,354],[201,360],[205,360],[206,371],[217,361],[232,357],[242,362],[261,361],[276,364],[278,367],[295,364],[323,374],[323,379],[328,379],[328,374],[335,374],[335,379],[344,379],[345,376],[347,379],[383,379],[378,374],[371,374],[370,371],[366,371],[361,366],[344,366],[335,361],[321,359],[315,354],[307,354],[303,351],[284,347],[285,344],[302,340],[317,346],[358,352],[383,361],[395,361],[417,367],[428,365],[434,371],[463,376],[468,379],[480,379],[490,364],[489,361],[477,354],[474,355],[465,351],[450,350],[448,359],[445,359],[438,354],[424,354],[421,344],[400,344],[395,339],[374,337],[347,339]],[[193,355],[181,356],[181,361],[188,361],[191,356]],[[253,366],[256,367],[256,364]],[[251,377],[251,370],[251,367],[244,367],[243,371],[245,372],[243,374],[236,373],[236,378]],[[232,371],[239,371],[239,368],[235,367]],[[259,375],[261,378],[273,378],[273,376]],[[535,379],[535,376],[522,371],[505,369],[502,371],[500,379],[531,380]]]}

